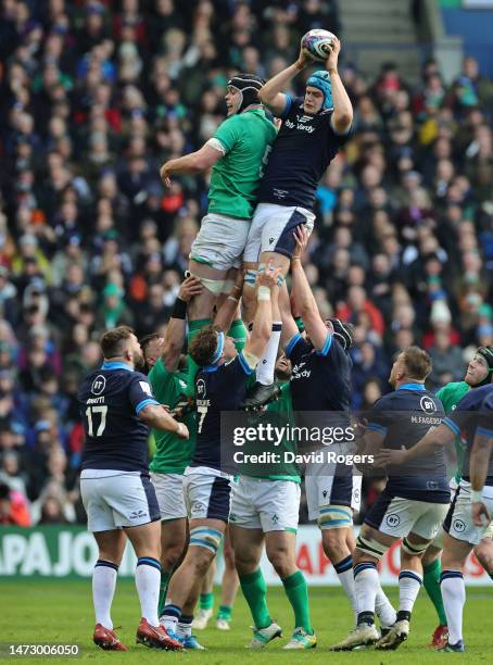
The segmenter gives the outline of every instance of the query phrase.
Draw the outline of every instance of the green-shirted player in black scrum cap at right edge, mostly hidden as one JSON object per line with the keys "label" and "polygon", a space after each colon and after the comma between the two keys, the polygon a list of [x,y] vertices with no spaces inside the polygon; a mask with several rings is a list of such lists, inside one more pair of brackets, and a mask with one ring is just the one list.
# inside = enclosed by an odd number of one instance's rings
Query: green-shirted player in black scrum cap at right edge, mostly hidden
{"label": "green-shirted player in black scrum cap at right edge, mostly hidden", "polygon": [[[490,347],[481,347],[477,350],[475,356],[468,364],[464,380],[446,384],[437,392],[437,397],[442,402],[445,413],[450,414],[452,411],[454,411],[458,402],[460,402],[463,397],[469,392],[469,390],[490,384],[492,380],[492,374],[493,349]],[[455,437],[454,444],[457,456],[457,467],[450,484],[453,493],[455,493],[460,482],[465,454],[465,446],[460,436]],[[483,568],[488,570],[488,573],[493,570],[492,537],[493,529],[490,527],[479,545],[475,548],[476,557],[481,563]],[[443,606],[442,592],[440,590],[440,574],[442,572],[442,538],[443,531],[437,536],[422,557],[422,582],[439,617],[439,625],[434,629],[431,639],[431,645],[435,648],[444,647],[448,637],[445,610]]]}

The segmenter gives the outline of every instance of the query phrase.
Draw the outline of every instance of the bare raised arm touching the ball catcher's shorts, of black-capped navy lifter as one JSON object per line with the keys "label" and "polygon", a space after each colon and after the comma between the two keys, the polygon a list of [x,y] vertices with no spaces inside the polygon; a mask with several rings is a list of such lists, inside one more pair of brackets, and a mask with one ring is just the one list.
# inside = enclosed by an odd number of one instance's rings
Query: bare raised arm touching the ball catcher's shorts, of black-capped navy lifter
{"label": "bare raised arm touching the ball catcher's shorts, of black-capped navy lifter", "polygon": [[296,249],[291,261],[291,273],[293,277],[292,298],[296,311],[303,319],[306,332],[317,351],[323,351],[330,332],[320,316],[318,305],[312,292],[311,286],[303,269],[301,258],[308,242],[308,234],[304,226],[298,226],[294,230]]}

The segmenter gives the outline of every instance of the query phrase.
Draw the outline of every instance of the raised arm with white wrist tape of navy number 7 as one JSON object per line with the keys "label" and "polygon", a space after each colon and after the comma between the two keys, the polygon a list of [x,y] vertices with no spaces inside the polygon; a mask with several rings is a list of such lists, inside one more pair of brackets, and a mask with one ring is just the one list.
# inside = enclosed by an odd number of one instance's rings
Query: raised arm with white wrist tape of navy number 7
{"label": "raised arm with white wrist tape of navy number 7", "polygon": [[256,278],[257,308],[252,334],[244,347],[244,353],[251,353],[256,357],[262,355],[273,329],[273,300],[278,298],[279,273],[279,269],[273,269],[271,264],[267,264],[266,269]]}

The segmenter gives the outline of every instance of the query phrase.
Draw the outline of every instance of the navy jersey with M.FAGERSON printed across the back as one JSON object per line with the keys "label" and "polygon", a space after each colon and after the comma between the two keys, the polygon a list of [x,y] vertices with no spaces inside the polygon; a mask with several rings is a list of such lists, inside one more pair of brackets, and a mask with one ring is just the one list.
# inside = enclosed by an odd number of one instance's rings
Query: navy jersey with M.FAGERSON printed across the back
{"label": "navy jersey with M.FAGERSON printed across the back", "polygon": [[[368,429],[384,435],[382,448],[413,448],[442,422],[442,402],[422,384],[404,384],[375,402],[368,414]],[[430,455],[399,466],[387,466],[385,491],[403,499],[450,503],[443,448]]]}

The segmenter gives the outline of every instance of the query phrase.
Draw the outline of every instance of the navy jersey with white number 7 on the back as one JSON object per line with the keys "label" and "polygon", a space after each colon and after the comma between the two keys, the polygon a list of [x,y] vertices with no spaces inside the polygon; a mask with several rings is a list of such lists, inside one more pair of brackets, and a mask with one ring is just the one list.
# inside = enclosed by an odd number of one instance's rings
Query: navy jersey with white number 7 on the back
{"label": "navy jersey with white number 7 on the back", "polygon": [[208,365],[198,372],[197,443],[190,466],[220,470],[220,412],[238,411],[252,372],[243,353],[224,365]]}

